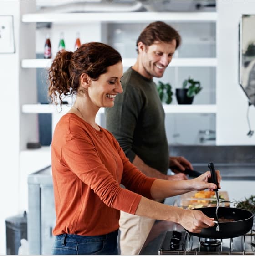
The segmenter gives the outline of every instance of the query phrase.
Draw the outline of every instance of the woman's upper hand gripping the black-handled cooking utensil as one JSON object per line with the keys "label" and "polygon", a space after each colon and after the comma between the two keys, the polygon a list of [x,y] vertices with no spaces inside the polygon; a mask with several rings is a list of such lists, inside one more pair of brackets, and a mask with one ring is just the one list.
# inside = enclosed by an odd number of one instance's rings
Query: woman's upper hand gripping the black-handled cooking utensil
{"label": "woman's upper hand gripping the black-handled cooking utensil", "polygon": [[[220,189],[221,175],[219,171],[215,171],[218,182],[218,189]],[[200,191],[204,189],[214,190],[217,189],[217,185],[211,182],[211,172],[207,171],[204,174],[201,174],[195,179],[191,179],[190,182],[195,190]]]}

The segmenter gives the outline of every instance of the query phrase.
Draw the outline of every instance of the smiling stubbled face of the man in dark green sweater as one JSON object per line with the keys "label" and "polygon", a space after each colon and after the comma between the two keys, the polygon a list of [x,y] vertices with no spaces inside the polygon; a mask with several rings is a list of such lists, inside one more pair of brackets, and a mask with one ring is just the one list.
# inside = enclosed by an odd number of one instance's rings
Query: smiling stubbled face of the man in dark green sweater
{"label": "smiling stubbled face of the man in dark green sweater", "polygon": [[176,48],[176,40],[169,43],[154,41],[150,46],[139,42],[138,49],[143,76],[147,78],[162,77],[168,64],[171,62]]}

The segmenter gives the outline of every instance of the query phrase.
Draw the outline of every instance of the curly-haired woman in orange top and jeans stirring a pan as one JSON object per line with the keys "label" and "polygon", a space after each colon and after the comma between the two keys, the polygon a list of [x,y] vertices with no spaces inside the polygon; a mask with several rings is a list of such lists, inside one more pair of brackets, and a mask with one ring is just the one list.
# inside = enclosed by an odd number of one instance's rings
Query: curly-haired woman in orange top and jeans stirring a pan
{"label": "curly-haired woman in orange top and jeans stirring a pan", "polygon": [[112,107],[122,93],[122,74],[120,54],[97,42],[83,44],[75,52],[58,52],[52,62],[52,101],[76,94],[73,107],[57,123],[51,144],[56,208],[53,254],[117,254],[120,210],[174,221],[192,232],[214,225],[200,211],[150,200],[215,189],[207,182],[209,172],[175,182],[148,178],[129,162],[112,134],[95,122],[99,108]]}

